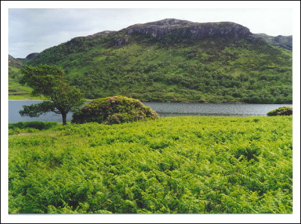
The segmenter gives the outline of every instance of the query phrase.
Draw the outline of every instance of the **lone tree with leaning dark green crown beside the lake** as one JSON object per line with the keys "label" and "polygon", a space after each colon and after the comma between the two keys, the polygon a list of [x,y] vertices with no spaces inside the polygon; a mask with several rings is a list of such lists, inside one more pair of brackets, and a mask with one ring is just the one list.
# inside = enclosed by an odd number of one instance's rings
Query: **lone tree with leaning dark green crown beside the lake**
{"label": "lone tree with leaning dark green crown beside the lake", "polygon": [[83,94],[67,83],[63,69],[56,65],[25,66],[21,73],[23,77],[20,83],[27,84],[33,89],[32,96],[43,95],[50,100],[23,105],[23,110],[19,111],[21,116],[34,117],[46,112],[54,112],[62,115],[63,125],[66,125],[68,112],[84,102]]}

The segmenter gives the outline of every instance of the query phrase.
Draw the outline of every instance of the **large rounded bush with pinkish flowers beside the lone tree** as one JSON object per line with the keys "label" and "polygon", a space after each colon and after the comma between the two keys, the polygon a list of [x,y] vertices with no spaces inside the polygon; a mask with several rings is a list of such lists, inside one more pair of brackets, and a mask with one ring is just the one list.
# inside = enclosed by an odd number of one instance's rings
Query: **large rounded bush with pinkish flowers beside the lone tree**
{"label": "large rounded bush with pinkish flowers beside the lone tree", "polygon": [[158,114],[137,99],[110,96],[87,103],[74,112],[72,123],[97,122],[107,125],[156,119]]}

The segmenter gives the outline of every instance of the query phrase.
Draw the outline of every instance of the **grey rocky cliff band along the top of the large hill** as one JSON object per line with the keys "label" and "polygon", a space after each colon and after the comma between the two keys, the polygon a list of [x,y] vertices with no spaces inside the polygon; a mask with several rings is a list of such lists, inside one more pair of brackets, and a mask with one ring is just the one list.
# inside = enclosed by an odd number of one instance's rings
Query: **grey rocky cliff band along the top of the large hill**
{"label": "grey rocky cliff band along the top of the large hill", "polygon": [[136,24],[121,31],[127,34],[150,34],[152,37],[162,37],[168,32],[177,30],[186,37],[211,37],[214,35],[231,36],[234,38],[248,37],[252,33],[248,28],[237,23],[193,23],[179,19],[163,19],[152,23]]}

